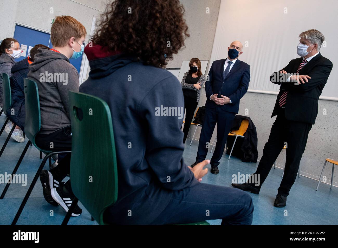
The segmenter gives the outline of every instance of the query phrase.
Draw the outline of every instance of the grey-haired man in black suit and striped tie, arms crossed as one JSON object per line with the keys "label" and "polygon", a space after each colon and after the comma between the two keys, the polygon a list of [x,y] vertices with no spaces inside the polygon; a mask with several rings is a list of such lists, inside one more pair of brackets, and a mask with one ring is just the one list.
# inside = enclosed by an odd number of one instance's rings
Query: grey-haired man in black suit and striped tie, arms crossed
{"label": "grey-haired man in black suit and striped tie, arms crossed", "polygon": [[[232,184],[258,194],[272,164],[286,145],[284,176],[274,201],[276,207],[286,205],[286,197],[296,180],[309,131],[318,114],[319,96],[332,70],[332,62],[319,52],[323,41],[323,34],[316,29],[301,33],[297,47],[301,58],[291,60],[281,71],[271,75],[272,83],[281,84],[271,116],[277,115],[277,118],[257,171],[245,184]],[[252,183],[257,178],[259,182]]]}

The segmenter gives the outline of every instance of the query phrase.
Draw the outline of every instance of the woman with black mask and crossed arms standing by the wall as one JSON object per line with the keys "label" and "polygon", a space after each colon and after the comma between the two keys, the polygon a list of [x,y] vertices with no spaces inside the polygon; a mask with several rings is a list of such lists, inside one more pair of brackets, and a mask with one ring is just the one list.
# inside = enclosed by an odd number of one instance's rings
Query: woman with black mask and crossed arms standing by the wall
{"label": "woman with black mask and crossed arms standing by the wall", "polygon": [[183,143],[186,142],[190,123],[194,117],[195,109],[199,102],[201,88],[206,77],[201,71],[201,61],[198,58],[192,58],[189,62],[190,70],[183,76],[181,85],[184,95],[184,109],[186,111],[186,119],[183,128]]}

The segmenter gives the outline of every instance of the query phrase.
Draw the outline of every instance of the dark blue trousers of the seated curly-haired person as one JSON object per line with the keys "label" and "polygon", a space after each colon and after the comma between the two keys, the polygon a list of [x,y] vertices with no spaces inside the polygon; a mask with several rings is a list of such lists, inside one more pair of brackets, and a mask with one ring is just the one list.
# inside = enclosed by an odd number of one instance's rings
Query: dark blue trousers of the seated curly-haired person
{"label": "dark blue trousers of the seated curly-haired person", "polygon": [[173,191],[165,210],[150,224],[184,224],[222,219],[222,225],[250,225],[254,204],[248,193],[230,187],[199,183]]}

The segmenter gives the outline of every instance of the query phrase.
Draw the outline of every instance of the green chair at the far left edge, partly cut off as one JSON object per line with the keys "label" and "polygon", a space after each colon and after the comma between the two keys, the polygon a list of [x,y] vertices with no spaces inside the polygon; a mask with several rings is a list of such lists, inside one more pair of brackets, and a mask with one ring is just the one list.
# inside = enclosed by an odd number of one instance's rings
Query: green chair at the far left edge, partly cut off
{"label": "green chair at the far left edge, partly cut off", "polygon": [[[8,74],[2,73],[2,93],[3,93],[3,113],[6,115],[7,109],[9,109],[12,106],[12,96],[10,92],[10,82],[9,82],[9,77]],[[7,122],[9,121],[7,115],[6,115],[6,121],[4,125],[1,128],[0,135],[2,134],[3,130],[5,129]],[[13,131],[15,129],[15,125],[11,128],[5,143],[2,145],[2,148],[0,150],[0,157],[10,139],[10,136],[12,135]]]}

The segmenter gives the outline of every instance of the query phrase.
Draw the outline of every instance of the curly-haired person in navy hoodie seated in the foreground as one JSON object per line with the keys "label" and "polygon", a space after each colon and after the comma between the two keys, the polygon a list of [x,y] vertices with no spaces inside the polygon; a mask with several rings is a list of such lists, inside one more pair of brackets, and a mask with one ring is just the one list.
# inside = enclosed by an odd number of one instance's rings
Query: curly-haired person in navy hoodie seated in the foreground
{"label": "curly-haired person in navy hoodie seated in the foreground", "polygon": [[[79,88],[107,102],[118,144],[118,199],[104,212],[104,221],[251,224],[254,206],[247,193],[201,183],[210,161],[191,168],[183,159],[182,87],[163,69],[189,36],[183,6],[178,0],[108,5],[92,46],[84,49],[91,71]],[[173,107],[174,115],[165,107]]]}

